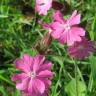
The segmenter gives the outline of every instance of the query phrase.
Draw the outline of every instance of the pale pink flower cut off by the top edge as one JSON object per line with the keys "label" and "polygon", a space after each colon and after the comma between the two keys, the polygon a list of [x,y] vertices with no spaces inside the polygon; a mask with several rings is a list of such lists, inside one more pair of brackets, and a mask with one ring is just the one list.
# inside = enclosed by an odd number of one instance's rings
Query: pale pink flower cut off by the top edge
{"label": "pale pink flower cut off by the top edge", "polygon": [[52,0],[36,0],[35,9],[40,15],[47,15],[47,12],[51,7]]}

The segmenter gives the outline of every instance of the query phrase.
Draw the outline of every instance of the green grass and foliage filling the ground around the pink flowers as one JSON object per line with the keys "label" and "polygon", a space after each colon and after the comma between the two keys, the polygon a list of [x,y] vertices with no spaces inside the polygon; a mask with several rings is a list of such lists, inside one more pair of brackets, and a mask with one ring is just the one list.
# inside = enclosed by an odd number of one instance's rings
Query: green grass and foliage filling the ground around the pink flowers
{"label": "green grass and foliage filling the ground around the pink flowers", "polygon": [[[36,46],[47,31],[37,21],[52,20],[53,10],[49,11],[48,16],[33,14],[36,17],[33,19],[25,16],[22,13],[23,5],[34,7],[33,1],[35,0],[0,0],[0,96],[21,96],[11,81],[11,76],[17,72],[13,62],[25,53],[35,56],[41,51]],[[95,41],[96,0],[60,0],[62,4],[64,1],[70,6],[70,12],[65,17],[77,9],[82,14],[80,26],[86,29],[87,37]],[[53,40],[45,49],[46,52],[42,54],[53,62],[52,71],[55,73],[49,96],[76,96],[75,64],[68,56],[66,46]],[[77,63],[78,96],[96,96],[96,53]]]}

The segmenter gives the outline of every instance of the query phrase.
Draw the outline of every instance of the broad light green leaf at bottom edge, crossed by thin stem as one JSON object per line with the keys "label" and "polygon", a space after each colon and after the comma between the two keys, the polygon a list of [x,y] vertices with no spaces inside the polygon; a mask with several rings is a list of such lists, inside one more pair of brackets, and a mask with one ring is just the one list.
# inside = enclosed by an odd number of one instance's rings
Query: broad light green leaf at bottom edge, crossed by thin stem
{"label": "broad light green leaf at bottom edge, crossed by thin stem", "polygon": [[[78,81],[78,96],[86,96],[86,85],[82,81]],[[76,80],[71,80],[66,86],[65,90],[68,96],[76,96]]]}

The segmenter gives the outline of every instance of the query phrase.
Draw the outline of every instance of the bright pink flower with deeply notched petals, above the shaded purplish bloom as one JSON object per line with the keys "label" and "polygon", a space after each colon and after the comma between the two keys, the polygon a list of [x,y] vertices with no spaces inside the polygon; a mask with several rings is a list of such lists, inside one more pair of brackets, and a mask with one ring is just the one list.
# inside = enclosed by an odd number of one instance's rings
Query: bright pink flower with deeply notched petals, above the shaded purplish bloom
{"label": "bright pink flower with deeply notched petals, above the shaded purplish bloom", "polygon": [[67,43],[68,46],[73,45],[75,41],[81,41],[81,36],[85,35],[85,30],[77,26],[80,23],[80,17],[81,15],[77,14],[75,10],[72,16],[65,20],[60,11],[56,11],[51,25],[54,29],[51,32],[52,37],[60,41],[61,44]]}

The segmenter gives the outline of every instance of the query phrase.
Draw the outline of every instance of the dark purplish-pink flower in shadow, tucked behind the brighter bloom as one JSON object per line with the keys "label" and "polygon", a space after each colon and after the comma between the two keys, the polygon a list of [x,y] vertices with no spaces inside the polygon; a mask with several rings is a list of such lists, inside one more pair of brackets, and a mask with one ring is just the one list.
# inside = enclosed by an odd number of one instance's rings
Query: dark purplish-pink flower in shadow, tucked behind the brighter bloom
{"label": "dark purplish-pink flower in shadow, tucked behind the brighter bloom", "polygon": [[82,38],[82,41],[76,42],[73,46],[69,47],[68,53],[70,56],[76,59],[85,59],[94,51],[92,41],[88,41],[86,38]]}

